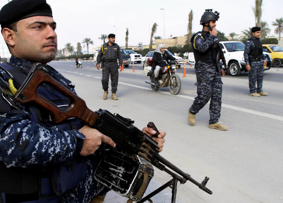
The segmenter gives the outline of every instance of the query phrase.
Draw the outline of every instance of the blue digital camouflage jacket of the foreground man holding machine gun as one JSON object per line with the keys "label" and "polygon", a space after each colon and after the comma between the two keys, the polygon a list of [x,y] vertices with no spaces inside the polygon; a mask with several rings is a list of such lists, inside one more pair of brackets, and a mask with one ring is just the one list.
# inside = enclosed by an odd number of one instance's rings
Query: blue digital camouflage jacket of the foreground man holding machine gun
{"label": "blue digital camouflage jacket of the foreground man holding machine gun", "polygon": [[[10,63],[26,75],[34,64],[14,56],[11,56]],[[71,81],[51,66],[44,67],[50,76],[75,93]],[[9,74],[0,69],[0,93],[9,94],[13,100],[8,85],[10,78]],[[65,130],[58,125],[39,124],[30,115],[30,108],[19,105],[17,109],[0,95],[0,161],[4,162],[6,167],[29,168],[57,164],[81,151],[85,137],[78,131],[79,127]]]}

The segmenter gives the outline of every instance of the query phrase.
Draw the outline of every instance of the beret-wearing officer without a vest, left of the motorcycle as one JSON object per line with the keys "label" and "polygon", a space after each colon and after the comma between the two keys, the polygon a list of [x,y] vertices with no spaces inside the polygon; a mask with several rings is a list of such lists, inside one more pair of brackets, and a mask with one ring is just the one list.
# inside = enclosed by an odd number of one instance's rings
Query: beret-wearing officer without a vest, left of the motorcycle
{"label": "beret-wearing officer without a vest, left of the motorcycle", "polygon": [[97,66],[96,68],[99,70],[101,62],[102,65],[102,88],[104,90],[103,99],[107,99],[108,95],[108,81],[109,74],[111,76],[111,99],[117,100],[116,91],[118,86],[118,68],[117,68],[117,59],[119,60],[119,68],[122,70],[122,55],[120,51],[120,47],[115,43],[115,34],[108,35],[108,42],[101,46],[101,49],[97,55]]}

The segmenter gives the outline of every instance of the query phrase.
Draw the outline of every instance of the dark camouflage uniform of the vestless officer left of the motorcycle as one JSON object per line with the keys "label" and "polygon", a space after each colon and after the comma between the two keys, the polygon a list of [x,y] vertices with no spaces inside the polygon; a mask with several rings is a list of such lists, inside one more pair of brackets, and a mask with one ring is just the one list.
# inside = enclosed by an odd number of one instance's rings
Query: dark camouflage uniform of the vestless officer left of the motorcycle
{"label": "dark camouflage uniform of the vestless officer left of the motorcycle", "polygon": [[[122,54],[120,51],[120,47],[118,44],[114,43],[112,46],[110,46],[107,43],[104,43],[103,45],[103,51],[100,49],[98,55],[97,55],[97,64],[99,64],[103,60],[117,60],[119,61],[119,65],[122,66],[123,60],[122,60]],[[104,91],[108,91],[108,82],[109,82],[109,74],[111,77],[111,92],[116,93],[117,86],[118,86],[118,65],[117,62],[104,62],[102,66],[102,88]]]}

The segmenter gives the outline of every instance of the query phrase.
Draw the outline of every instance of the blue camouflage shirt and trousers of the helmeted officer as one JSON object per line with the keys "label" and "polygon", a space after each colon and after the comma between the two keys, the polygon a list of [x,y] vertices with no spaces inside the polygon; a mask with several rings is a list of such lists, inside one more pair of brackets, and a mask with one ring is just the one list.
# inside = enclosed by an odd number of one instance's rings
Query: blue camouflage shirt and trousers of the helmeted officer
{"label": "blue camouflage shirt and trousers of the helmeted officer", "polygon": [[192,41],[192,46],[194,46],[194,48],[200,53],[204,53],[206,51],[211,51],[211,53],[213,53],[208,60],[198,60],[195,64],[195,73],[197,77],[195,85],[197,86],[198,96],[195,97],[195,101],[190,107],[190,113],[197,114],[200,109],[205,106],[209,99],[211,99],[209,106],[209,124],[215,124],[218,122],[221,111],[221,66],[216,65],[216,50],[211,50],[214,49],[212,46],[218,42],[219,40],[217,36],[214,36],[205,30],[196,33]]}

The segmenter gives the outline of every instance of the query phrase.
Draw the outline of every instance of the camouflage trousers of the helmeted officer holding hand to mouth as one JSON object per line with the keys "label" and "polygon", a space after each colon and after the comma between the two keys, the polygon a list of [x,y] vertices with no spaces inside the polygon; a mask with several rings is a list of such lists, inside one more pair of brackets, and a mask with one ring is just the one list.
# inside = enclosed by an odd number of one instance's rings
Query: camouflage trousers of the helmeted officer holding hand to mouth
{"label": "camouflage trousers of the helmeted officer holding hand to mouth", "polygon": [[190,107],[190,113],[196,114],[202,109],[210,99],[209,124],[215,124],[220,118],[222,82],[219,72],[216,73],[196,73],[197,94],[195,101]]}

